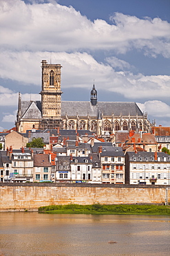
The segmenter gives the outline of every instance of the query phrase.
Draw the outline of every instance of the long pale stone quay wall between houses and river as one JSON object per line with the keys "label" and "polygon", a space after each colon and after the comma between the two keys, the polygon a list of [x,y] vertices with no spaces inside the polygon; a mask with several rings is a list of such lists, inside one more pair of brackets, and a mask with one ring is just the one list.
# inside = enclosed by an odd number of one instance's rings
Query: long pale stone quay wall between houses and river
{"label": "long pale stone quay wall between houses and river", "polygon": [[40,206],[70,203],[167,204],[170,186],[0,183],[0,211],[37,210]]}

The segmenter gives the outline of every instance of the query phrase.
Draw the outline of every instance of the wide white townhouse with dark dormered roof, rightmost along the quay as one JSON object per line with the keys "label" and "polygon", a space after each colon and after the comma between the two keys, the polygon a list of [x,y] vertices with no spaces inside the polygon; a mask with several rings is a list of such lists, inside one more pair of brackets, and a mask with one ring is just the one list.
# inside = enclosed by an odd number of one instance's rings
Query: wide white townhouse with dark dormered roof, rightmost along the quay
{"label": "wide white townhouse with dark dormered roof, rightmost along the quay", "polygon": [[163,152],[127,152],[127,184],[169,185],[170,156]]}

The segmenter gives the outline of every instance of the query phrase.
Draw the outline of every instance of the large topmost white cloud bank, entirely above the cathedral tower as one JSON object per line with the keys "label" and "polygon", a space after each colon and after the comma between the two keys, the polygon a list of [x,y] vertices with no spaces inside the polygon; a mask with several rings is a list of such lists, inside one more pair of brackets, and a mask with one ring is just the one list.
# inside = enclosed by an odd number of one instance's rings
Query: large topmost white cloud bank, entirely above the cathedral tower
{"label": "large topmost white cloud bank, entirely above the cathedral tower", "polygon": [[[45,17],[45,18],[44,18]],[[116,12],[113,24],[90,21],[72,6],[50,3],[25,4],[1,0],[1,47],[22,51],[79,51],[114,49],[125,53],[138,48],[152,55],[170,56],[170,24],[159,18],[138,19]]]}

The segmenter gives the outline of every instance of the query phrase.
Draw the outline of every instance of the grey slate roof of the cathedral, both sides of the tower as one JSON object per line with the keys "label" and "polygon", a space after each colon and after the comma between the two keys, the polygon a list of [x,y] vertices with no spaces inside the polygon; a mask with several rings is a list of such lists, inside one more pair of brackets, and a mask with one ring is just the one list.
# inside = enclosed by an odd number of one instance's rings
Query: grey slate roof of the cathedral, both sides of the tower
{"label": "grey slate roof of the cathedral, both sides of the tower", "polygon": [[[39,118],[39,111],[42,112],[41,101],[21,101],[21,116],[25,114],[26,118]],[[32,105],[32,106],[31,106]],[[36,108],[37,107],[37,108]],[[36,114],[28,109],[36,109]],[[143,116],[142,111],[139,109],[136,102],[98,102],[95,106],[89,101],[62,101],[61,102],[61,116],[91,116],[97,118],[98,113],[102,112],[104,116]]]}

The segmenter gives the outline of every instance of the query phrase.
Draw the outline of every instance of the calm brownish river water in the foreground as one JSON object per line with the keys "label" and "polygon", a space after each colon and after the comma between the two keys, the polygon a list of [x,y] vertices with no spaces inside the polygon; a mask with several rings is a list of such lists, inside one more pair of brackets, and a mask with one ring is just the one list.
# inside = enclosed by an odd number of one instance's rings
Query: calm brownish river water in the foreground
{"label": "calm brownish river water in the foreground", "polygon": [[12,256],[170,255],[170,217],[1,212],[0,246]]}

